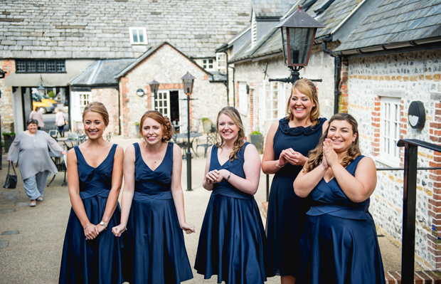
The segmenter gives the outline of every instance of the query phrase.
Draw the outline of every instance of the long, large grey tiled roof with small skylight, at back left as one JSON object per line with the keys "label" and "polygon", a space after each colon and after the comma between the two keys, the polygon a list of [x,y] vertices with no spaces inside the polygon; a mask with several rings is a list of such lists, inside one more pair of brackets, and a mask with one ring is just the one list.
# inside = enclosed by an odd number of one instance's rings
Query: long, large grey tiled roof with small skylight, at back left
{"label": "long, large grey tiled roof with small skylight, at back left", "polygon": [[[248,25],[250,6],[251,0],[3,0],[0,58],[137,58],[164,41],[190,57],[214,57]],[[131,45],[129,27],[147,28],[147,47]]]}

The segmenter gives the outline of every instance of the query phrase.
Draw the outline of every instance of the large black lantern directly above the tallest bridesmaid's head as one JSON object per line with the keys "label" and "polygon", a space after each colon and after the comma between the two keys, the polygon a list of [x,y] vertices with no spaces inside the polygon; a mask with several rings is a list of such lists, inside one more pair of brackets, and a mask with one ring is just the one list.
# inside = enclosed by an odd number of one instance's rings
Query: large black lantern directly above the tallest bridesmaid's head
{"label": "large black lantern directly above the tallest bridesmaid's head", "polygon": [[[317,28],[324,27],[322,23],[319,23],[319,21],[303,11],[302,5],[299,5],[297,11],[276,26],[276,28],[280,28],[282,32],[283,59],[285,65],[287,65],[292,72],[290,78],[270,79],[270,82],[279,81],[294,84],[295,81],[300,79],[299,70],[308,65]],[[322,82],[322,79],[312,81]]]}

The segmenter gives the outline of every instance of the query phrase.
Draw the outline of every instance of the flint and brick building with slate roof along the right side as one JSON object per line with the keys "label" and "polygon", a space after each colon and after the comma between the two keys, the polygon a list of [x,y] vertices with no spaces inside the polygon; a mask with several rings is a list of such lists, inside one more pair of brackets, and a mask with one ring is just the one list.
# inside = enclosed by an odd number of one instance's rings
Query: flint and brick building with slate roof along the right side
{"label": "flint and brick building with slate roof along the right side", "polygon": [[[253,0],[250,26],[217,49],[228,54],[233,70],[228,75],[229,97],[248,132],[266,134],[272,121],[286,115],[291,85],[268,82],[290,73],[283,63],[280,31],[273,27],[304,4],[304,11],[325,26],[317,30],[309,64],[300,71],[301,77],[323,80],[316,83],[322,116],[337,111],[354,115],[362,153],[373,157],[378,168],[403,167],[399,139],[440,144],[440,1],[297,1],[285,11],[277,2],[262,13],[258,7],[264,2]],[[259,21],[272,21],[273,26]],[[259,27],[264,31],[256,32]],[[422,129],[408,123],[413,101],[425,107]],[[420,149],[418,154],[419,167],[440,167],[439,153]],[[370,211],[378,230],[400,246],[403,171],[377,174]],[[430,269],[441,268],[441,250],[432,231],[432,225],[441,231],[440,174],[418,172],[415,257]]]}

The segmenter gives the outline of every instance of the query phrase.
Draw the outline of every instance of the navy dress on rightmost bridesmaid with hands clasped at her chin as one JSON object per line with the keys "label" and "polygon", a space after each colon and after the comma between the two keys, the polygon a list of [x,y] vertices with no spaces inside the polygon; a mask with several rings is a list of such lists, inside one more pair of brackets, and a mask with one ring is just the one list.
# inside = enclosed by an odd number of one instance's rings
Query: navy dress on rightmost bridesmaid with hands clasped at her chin
{"label": "navy dress on rightmost bridesmaid with hands clasped at her chin", "polygon": [[[357,157],[346,167],[355,175]],[[385,283],[375,223],[368,211],[370,199],[348,199],[336,179],[322,179],[312,190],[311,209],[300,240],[296,283]]]}

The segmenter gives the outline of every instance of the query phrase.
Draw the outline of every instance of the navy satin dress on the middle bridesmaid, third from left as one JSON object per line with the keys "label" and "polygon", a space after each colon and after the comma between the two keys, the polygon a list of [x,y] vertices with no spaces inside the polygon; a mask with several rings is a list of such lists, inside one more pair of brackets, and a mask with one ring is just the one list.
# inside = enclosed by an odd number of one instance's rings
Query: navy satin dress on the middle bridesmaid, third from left
{"label": "navy satin dress on the middle bridesmaid, third from left", "polygon": [[[243,172],[245,143],[238,159],[221,165],[218,148],[211,150],[210,171],[227,169],[245,179]],[[258,284],[265,277],[265,231],[253,195],[236,189],[223,180],[214,184],[206,214],[194,268],[205,279],[218,275],[218,283]]]}

